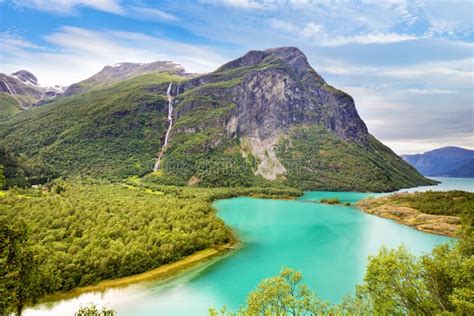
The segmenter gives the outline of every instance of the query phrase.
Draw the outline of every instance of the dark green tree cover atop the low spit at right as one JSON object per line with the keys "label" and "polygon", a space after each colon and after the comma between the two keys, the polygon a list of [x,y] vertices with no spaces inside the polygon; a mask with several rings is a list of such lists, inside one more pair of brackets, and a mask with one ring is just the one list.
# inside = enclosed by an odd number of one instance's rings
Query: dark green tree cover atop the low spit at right
{"label": "dark green tree cover atop the low spit at right", "polygon": [[474,212],[474,193],[459,190],[401,193],[386,199],[383,203],[408,206],[426,214],[461,216]]}

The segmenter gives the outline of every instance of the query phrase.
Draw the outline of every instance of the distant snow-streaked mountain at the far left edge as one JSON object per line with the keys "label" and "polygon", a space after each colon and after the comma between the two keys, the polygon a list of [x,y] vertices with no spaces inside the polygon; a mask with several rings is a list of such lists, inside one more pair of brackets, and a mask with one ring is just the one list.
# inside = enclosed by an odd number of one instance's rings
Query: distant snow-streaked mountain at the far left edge
{"label": "distant snow-streaked mountain at the far left edge", "polygon": [[[27,70],[10,75],[0,73],[0,119],[26,110],[40,101],[50,100],[64,93],[60,86],[46,87],[38,84],[36,76]],[[12,106],[13,104],[13,106]]]}

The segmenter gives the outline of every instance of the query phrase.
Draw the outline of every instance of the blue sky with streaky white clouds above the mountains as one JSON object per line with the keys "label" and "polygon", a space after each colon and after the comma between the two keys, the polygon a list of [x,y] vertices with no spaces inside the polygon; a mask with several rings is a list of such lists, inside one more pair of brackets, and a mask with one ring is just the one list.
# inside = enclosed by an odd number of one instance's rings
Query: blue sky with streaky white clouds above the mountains
{"label": "blue sky with streaky white clouds above the mountains", "polygon": [[119,62],[210,72],[301,49],[398,154],[474,149],[474,0],[0,0],[0,72],[69,85]]}

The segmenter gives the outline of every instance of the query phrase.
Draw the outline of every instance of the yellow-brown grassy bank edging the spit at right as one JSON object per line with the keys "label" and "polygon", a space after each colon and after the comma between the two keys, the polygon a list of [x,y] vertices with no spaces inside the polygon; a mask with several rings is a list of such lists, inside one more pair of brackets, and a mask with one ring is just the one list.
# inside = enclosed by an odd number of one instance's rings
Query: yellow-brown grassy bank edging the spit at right
{"label": "yellow-brown grassy bank edging the spit at right", "polygon": [[413,207],[398,204],[398,196],[400,195],[367,198],[360,200],[356,205],[368,214],[393,219],[400,224],[423,232],[460,237],[462,227],[461,219],[458,216],[426,214]]}

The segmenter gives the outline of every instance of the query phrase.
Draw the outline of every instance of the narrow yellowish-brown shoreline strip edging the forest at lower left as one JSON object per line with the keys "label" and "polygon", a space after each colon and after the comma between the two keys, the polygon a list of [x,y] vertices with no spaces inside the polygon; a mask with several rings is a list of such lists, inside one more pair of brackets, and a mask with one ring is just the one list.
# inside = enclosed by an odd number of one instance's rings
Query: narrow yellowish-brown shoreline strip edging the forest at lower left
{"label": "narrow yellowish-brown shoreline strip edging the forest at lower left", "polygon": [[[155,281],[165,280],[177,276],[180,273],[184,273],[186,270],[196,267],[199,264],[205,263],[211,259],[221,258],[227,255],[230,251],[238,249],[239,242],[234,241],[231,244],[220,245],[212,248],[206,248],[199,250],[189,256],[179,259],[178,261],[161,265],[155,269],[148,270],[142,273],[133,274],[126,277],[120,277],[116,279],[109,279],[100,281],[94,285],[87,285],[83,287],[77,287],[68,291],[56,292],[45,296],[41,301],[35,305],[44,303],[59,301],[63,299],[70,299],[80,296],[89,292],[104,292],[111,288],[126,287],[128,285]],[[29,306],[34,308],[35,305]]]}

